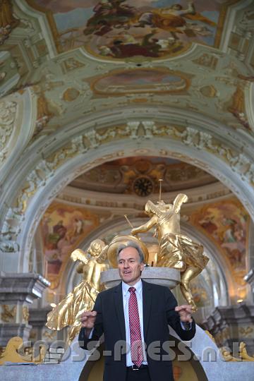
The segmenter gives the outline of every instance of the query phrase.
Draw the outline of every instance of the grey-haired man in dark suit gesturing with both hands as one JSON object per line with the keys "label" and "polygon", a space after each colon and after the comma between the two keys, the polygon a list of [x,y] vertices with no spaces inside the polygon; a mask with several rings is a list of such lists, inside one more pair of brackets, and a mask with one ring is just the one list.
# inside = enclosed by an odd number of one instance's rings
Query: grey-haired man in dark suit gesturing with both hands
{"label": "grey-haired man in dark suit gesturing with both hands", "polygon": [[94,309],[83,313],[80,346],[87,349],[104,333],[104,381],[174,381],[168,325],[192,339],[191,306],[177,307],[167,287],[141,281],[144,256],[136,243],[119,246],[116,255],[122,282],[99,293]]}

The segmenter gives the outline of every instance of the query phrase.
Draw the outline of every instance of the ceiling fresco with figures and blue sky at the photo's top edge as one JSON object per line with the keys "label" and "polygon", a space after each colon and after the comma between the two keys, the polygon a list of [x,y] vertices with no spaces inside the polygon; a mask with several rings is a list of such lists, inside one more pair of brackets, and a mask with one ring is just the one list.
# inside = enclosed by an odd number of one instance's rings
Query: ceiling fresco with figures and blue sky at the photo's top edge
{"label": "ceiling fresco with figures and blue sky at the photo's top edge", "polygon": [[191,42],[217,46],[226,10],[219,0],[27,1],[47,13],[59,52],[85,47],[112,59],[174,56]]}

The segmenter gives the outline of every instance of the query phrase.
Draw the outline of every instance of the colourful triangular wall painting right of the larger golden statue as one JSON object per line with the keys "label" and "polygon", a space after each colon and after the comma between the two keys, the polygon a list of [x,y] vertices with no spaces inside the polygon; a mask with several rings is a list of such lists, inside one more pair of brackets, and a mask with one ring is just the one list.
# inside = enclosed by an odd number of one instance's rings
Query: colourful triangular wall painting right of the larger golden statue
{"label": "colourful triangular wall painting right of the larger golden statue", "polygon": [[190,221],[214,241],[235,282],[243,286],[249,216],[241,202],[232,198],[205,205],[191,215]]}

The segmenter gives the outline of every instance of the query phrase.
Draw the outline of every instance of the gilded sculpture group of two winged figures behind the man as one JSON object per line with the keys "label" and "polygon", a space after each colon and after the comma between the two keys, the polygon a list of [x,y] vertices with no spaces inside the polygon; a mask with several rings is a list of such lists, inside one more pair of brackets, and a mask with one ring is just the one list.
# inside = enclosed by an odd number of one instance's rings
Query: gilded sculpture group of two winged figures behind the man
{"label": "gilded sculpture group of two winged figures behind the man", "polygon": [[157,262],[154,265],[171,267],[181,272],[181,292],[186,301],[193,306],[193,310],[197,310],[190,282],[202,272],[209,258],[203,254],[202,245],[181,234],[180,210],[183,202],[187,200],[188,197],[182,193],[176,196],[173,204],[166,204],[163,200],[154,204],[149,200],[145,205],[145,213],[150,219],[146,224],[133,228],[131,235],[116,236],[109,245],[101,239],[95,239],[90,243],[86,253],[80,249],[73,251],[71,258],[80,261],[77,272],[83,273],[83,281],[48,314],[47,327],[59,330],[69,326],[68,344],[70,344],[80,331],[80,316],[85,310],[92,310],[97,294],[103,289],[100,284],[101,272],[109,270],[110,267],[117,267],[116,246],[126,241],[136,241],[147,261],[148,249],[136,236],[152,228],[155,228],[159,244]]}

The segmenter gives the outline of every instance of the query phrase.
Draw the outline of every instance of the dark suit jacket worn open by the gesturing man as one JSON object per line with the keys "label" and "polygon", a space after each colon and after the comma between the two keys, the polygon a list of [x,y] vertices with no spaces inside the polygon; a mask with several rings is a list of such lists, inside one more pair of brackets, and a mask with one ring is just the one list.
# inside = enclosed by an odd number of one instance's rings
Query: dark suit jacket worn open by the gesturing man
{"label": "dark suit jacket worn open by the gesturing man", "polygon": [[[176,306],[176,298],[167,287],[143,281],[143,330],[145,344],[152,349],[151,343],[157,341],[155,346],[160,347],[160,351],[158,349],[155,350],[156,358],[152,358],[153,356],[151,356],[150,351],[147,351],[147,363],[152,381],[174,380],[170,359],[164,361],[163,358],[162,360],[162,355],[169,357],[169,349],[164,350],[169,348],[169,345],[164,344],[164,348],[162,348],[164,341],[169,340],[168,324],[171,325],[183,340],[191,340],[195,334],[195,322],[193,322],[190,330],[182,329],[179,314],[174,310]],[[112,354],[111,356],[104,357],[103,380],[125,380],[126,354],[122,353],[119,356],[119,346],[115,346],[117,341],[126,340],[121,283],[119,286],[98,294],[94,310],[97,311],[97,318],[92,339],[85,337],[85,329],[82,328],[78,337],[80,346],[83,349],[87,349],[89,341],[97,341],[104,333],[105,350],[111,351]],[[157,353],[160,353],[161,356]]]}

